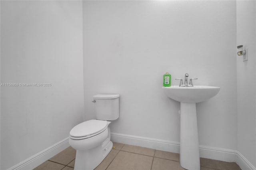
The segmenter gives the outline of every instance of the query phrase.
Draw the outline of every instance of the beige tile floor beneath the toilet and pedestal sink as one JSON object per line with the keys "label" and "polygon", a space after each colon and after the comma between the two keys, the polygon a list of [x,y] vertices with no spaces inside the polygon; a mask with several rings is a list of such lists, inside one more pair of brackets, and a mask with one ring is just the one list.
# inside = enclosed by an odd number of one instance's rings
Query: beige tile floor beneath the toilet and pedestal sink
{"label": "beige tile floor beneath the toilet and pedestal sink", "polygon": [[[114,143],[108,156],[95,170],[184,170],[179,154],[140,146]],[[34,170],[73,170],[76,150],[66,148]],[[200,158],[201,170],[241,170],[235,162]]]}

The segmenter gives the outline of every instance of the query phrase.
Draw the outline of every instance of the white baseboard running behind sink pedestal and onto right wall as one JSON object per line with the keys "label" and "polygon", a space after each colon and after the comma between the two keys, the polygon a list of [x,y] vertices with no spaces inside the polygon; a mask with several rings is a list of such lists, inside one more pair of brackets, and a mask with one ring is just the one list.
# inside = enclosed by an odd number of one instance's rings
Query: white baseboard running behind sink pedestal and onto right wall
{"label": "white baseboard running behind sink pedestal and onto right wall", "polygon": [[[111,140],[113,142],[131,144],[146,148],[164,150],[168,152],[180,152],[180,142],[174,142],[169,140],[145,138],[141,136],[132,136],[113,132],[111,133]],[[256,170],[256,168],[237,150],[202,145],[199,146],[199,150],[200,157],[202,158],[221,160],[225,162],[236,162],[242,170]]]}

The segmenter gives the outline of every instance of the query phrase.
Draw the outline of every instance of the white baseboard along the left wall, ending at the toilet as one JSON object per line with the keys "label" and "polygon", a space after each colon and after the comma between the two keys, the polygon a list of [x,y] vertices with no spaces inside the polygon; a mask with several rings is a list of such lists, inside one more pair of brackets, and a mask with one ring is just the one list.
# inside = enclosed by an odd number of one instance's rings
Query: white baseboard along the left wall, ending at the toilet
{"label": "white baseboard along the left wall, ending at the toilet", "polygon": [[58,154],[62,150],[66,149],[69,146],[68,138],[61,140],[60,142],[46,148],[45,150],[31,156],[30,158],[12,166],[8,170],[32,170],[38,165],[42,164],[52,156]]}

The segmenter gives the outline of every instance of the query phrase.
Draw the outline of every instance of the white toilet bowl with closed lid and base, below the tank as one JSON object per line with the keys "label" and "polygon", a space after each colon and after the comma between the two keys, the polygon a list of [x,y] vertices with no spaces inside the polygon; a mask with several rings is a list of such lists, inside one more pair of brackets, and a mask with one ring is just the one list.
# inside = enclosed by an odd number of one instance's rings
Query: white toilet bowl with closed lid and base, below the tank
{"label": "white toilet bowl with closed lid and base, below the tank", "polygon": [[74,169],[92,170],[107,156],[113,147],[108,128],[110,123],[111,121],[90,120],[72,128],[69,144],[76,149]]}

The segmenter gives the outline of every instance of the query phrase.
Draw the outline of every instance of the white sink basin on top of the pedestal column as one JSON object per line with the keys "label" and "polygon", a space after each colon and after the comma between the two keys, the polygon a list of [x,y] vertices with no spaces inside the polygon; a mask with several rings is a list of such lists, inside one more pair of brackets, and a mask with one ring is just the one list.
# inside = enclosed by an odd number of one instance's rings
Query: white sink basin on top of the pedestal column
{"label": "white sink basin on top of the pedestal column", "polygon": [[214,97],[220,87],[195,85],[194,87],[162,87],[167,97],[182,103],[198,103]]}

